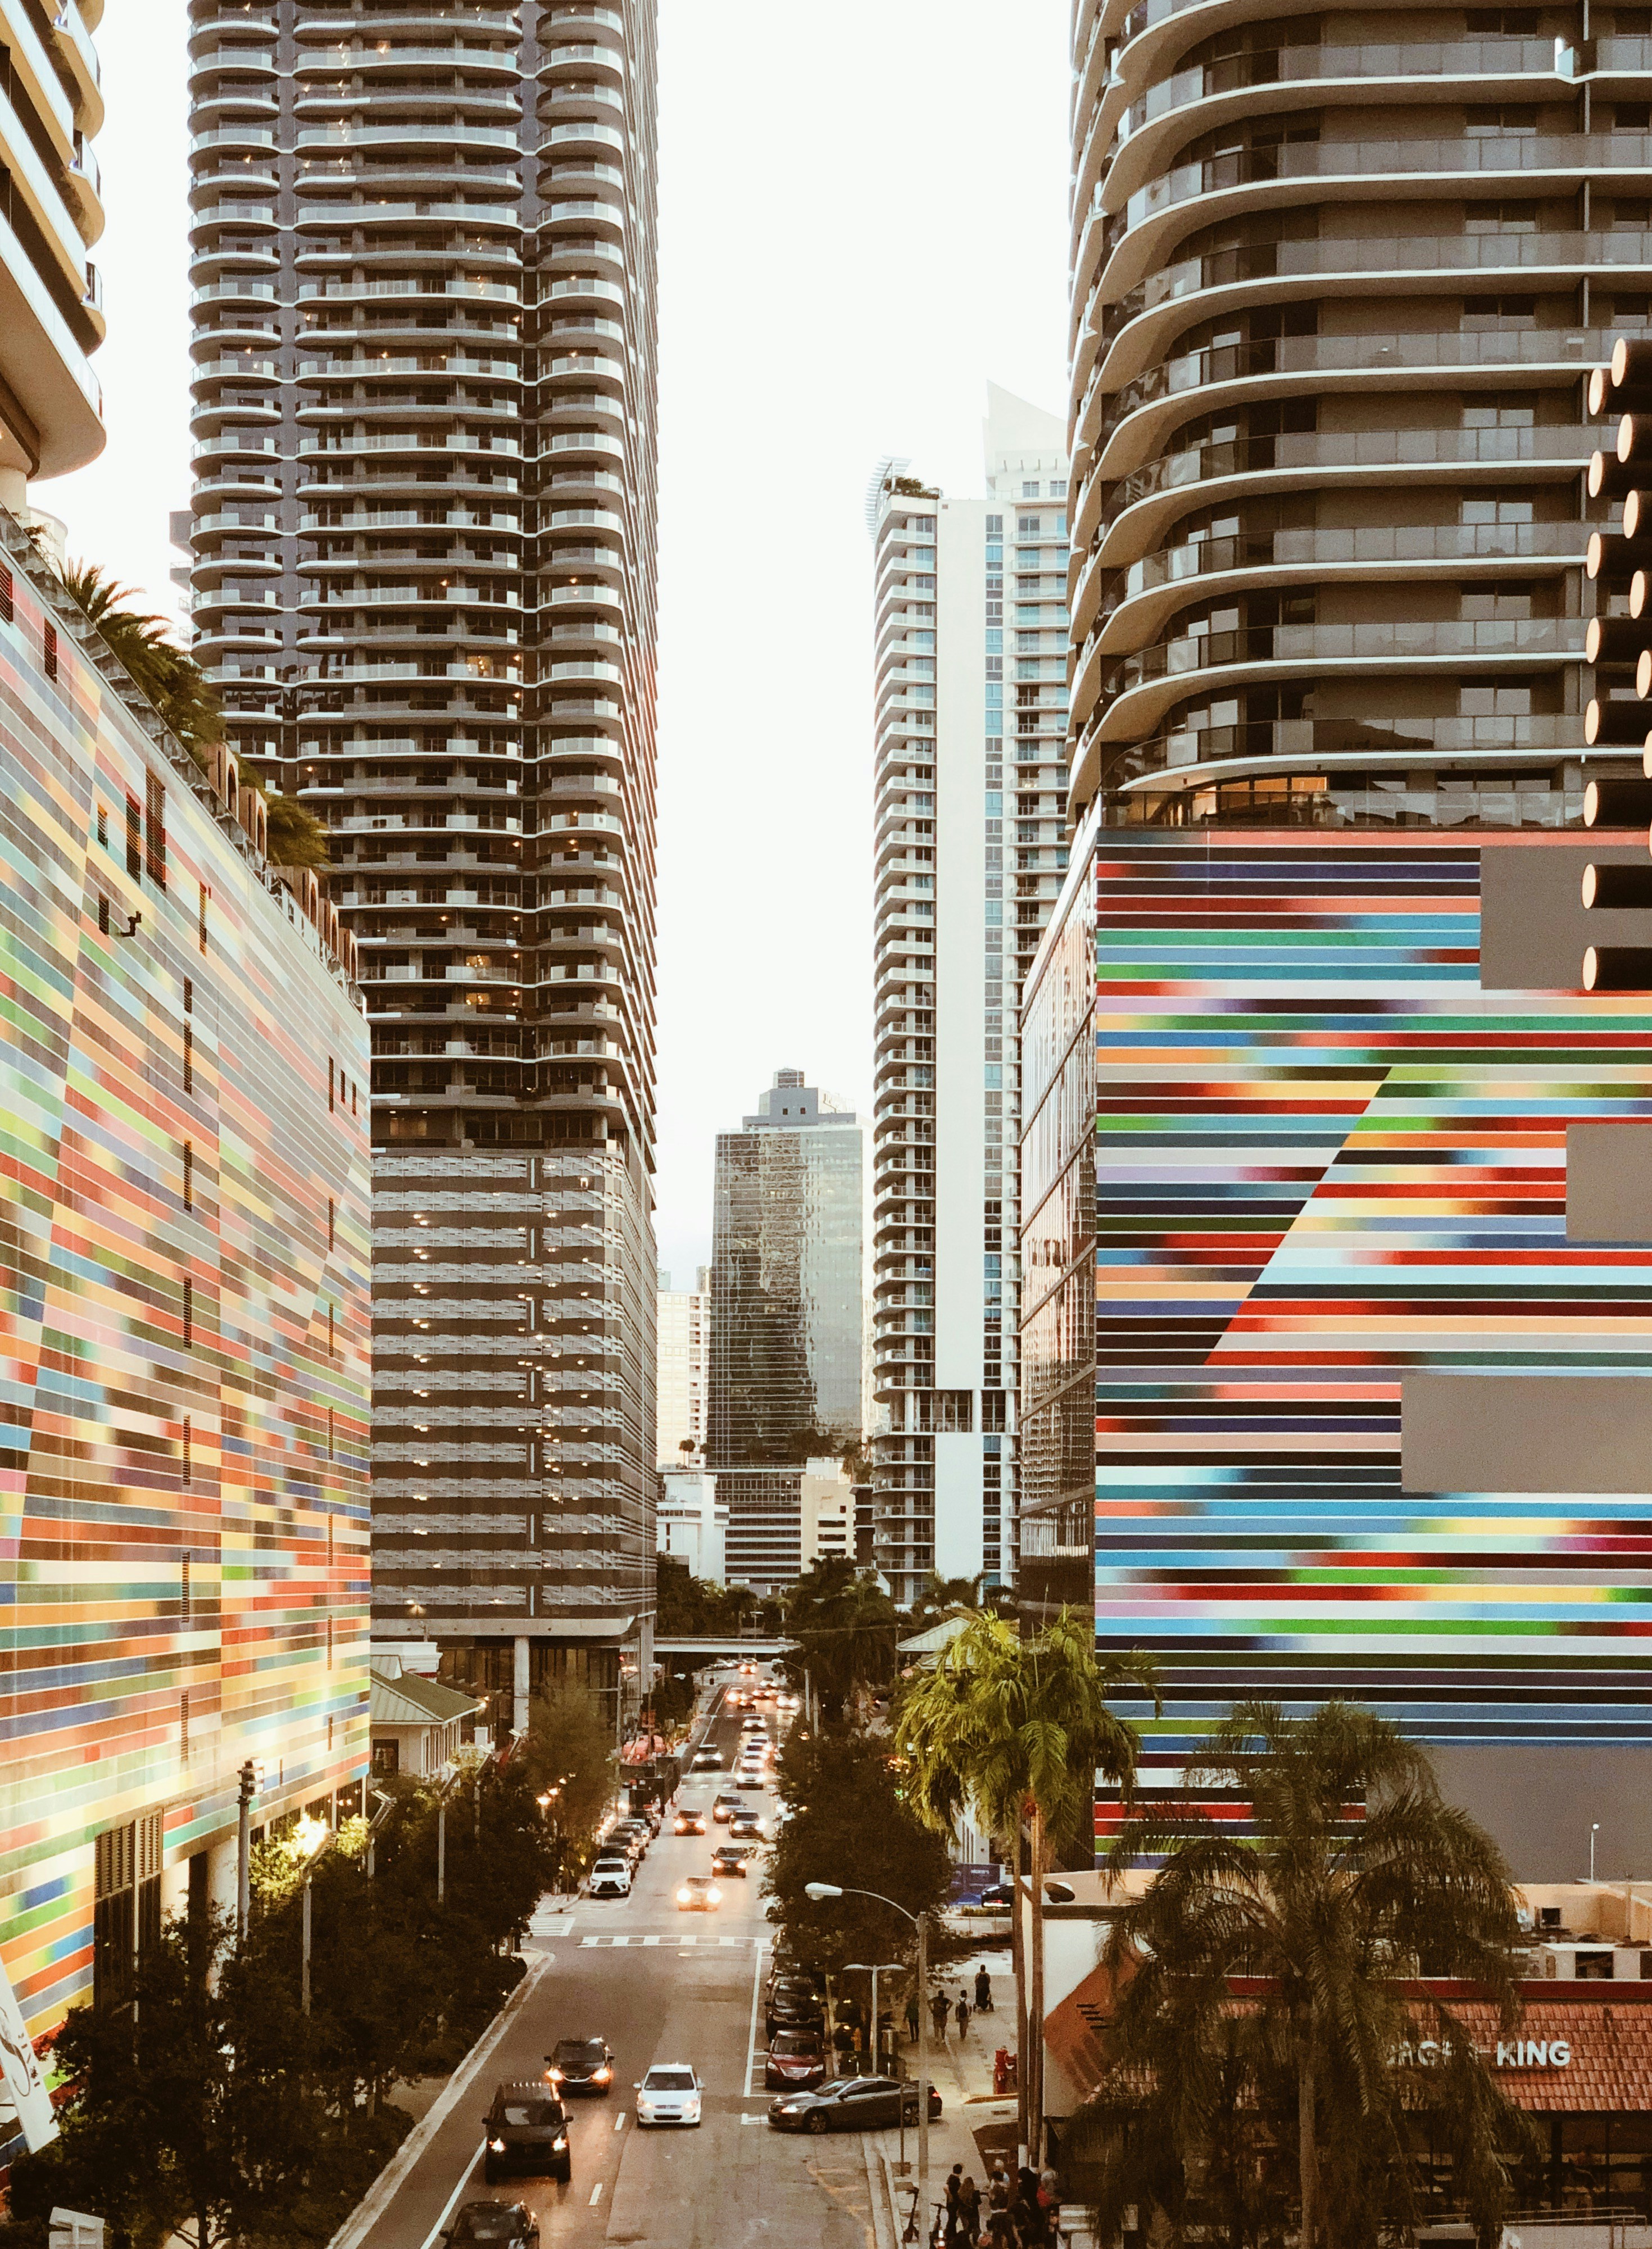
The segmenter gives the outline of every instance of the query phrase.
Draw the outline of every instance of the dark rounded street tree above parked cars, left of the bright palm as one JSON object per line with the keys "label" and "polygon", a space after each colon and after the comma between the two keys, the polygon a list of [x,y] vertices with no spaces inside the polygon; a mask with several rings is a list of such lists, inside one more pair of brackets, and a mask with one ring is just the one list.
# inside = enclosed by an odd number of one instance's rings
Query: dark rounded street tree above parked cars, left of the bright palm
{"label": "dark rounded street tree above parked cars, left of the bright palm", "polygon": [[[952,1887],[945,1840],[914,1813],[900,1761],[862,1734],[792,1732],[774,1763],[774,1786],[790,1808],[767,1855],[770,1921],[785,1925],[792,1952],[812,1968],[891,1959],[912,1927],[873,1898],[815,1905],[808,1882],[880,1889],[909,1914],[934,1912]],[[882,1945],[882,1950],[867,1950]]]}

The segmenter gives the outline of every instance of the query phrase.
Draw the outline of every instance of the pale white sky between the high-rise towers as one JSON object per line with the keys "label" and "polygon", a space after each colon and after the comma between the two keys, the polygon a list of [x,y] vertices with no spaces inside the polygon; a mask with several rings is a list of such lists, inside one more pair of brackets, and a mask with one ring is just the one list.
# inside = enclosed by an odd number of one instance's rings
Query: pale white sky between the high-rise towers
{"label": "pale white sky between the high-rise towers", "polygon": [[[776,1068],[871,1111],[867,479],[981,490],[988,380],[1067,394],[1065,0],[659,0],[659,1262]],[[97,34],[108,450],[36,490],[176,614],[182,0]]]}

